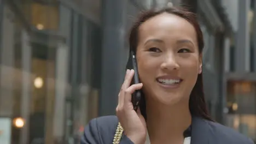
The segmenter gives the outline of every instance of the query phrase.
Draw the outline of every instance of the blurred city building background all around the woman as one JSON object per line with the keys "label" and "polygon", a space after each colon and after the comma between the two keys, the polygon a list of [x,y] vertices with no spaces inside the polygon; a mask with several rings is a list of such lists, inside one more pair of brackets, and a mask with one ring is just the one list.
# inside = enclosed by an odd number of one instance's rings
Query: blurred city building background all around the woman
{"label": "blurred city building background all around the woman", "polygon": [[79,143],[114,115],[140,11],[186,4],[205,37],[211,116],[256,141],[253,0],[0,0],[0,143]]}

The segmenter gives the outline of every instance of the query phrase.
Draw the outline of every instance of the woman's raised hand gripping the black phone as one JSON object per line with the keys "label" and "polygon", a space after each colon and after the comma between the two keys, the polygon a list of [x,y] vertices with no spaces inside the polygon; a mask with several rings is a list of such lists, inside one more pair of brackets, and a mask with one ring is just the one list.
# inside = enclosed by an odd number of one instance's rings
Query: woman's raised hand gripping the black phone
{"label": "woman's raised hand gripping the black phone", "polygon": [[[134,70],[127,70],[124,83],[118,95],[117,117],[124,133],[135,144],[145,143],[147,127],[140,110],[133,110],[131,94],[142,88],[142,83],[131,85]],[[131,86],[130,86],[131,85]]]}

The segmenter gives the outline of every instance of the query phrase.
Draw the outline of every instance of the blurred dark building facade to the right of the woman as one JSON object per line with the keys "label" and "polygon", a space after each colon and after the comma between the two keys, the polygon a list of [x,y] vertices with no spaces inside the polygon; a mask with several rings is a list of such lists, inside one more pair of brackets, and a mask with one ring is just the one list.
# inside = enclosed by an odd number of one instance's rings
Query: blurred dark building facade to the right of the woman
{"label": "blurred dark building facade to the right of the woman", "polygon": [[187,4],[202,21],[203,82],[212,117],[256,141],[255,1]]}

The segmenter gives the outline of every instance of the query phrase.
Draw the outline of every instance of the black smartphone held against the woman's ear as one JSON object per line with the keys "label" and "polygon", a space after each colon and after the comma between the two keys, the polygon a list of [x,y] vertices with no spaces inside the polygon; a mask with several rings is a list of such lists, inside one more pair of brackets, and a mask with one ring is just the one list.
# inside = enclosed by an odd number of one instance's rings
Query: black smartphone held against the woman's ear
{"label": "black smartphone held against the woman's ear", "polygon": [[[126,69],[133,69],[135,71],[132,82],[131,82],[131,85],[140,83],[139,82],[136,55],[135,55],[135,52],[133,52],[133,51],[130,51],[129,60],[128,60],[127,65],[126,65]],[[132,94],[132,104],[133,104],[133,109],[135,111],[138,110],[140,100],[141,100],[141,89],[136,90]]]}

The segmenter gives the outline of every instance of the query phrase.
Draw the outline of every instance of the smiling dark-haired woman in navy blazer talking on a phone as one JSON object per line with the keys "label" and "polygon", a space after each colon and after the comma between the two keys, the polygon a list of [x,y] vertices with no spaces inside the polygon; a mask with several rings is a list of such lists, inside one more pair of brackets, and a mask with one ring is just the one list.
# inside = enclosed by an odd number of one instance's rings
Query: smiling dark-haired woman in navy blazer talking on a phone
{"label": "smiling dark-haired woman in navy blazer talking on a phone", "polygon": [[[134,70],[126,71],[117,117],[92,119],[82,144],[253,143],[208,115],[202,88],[203,37],[193,13],[174,7],[143,13],[131,29],[130,47],[142,83],[130,85]],[[144,97],[135,112],[131,94],[137,89]]]}

